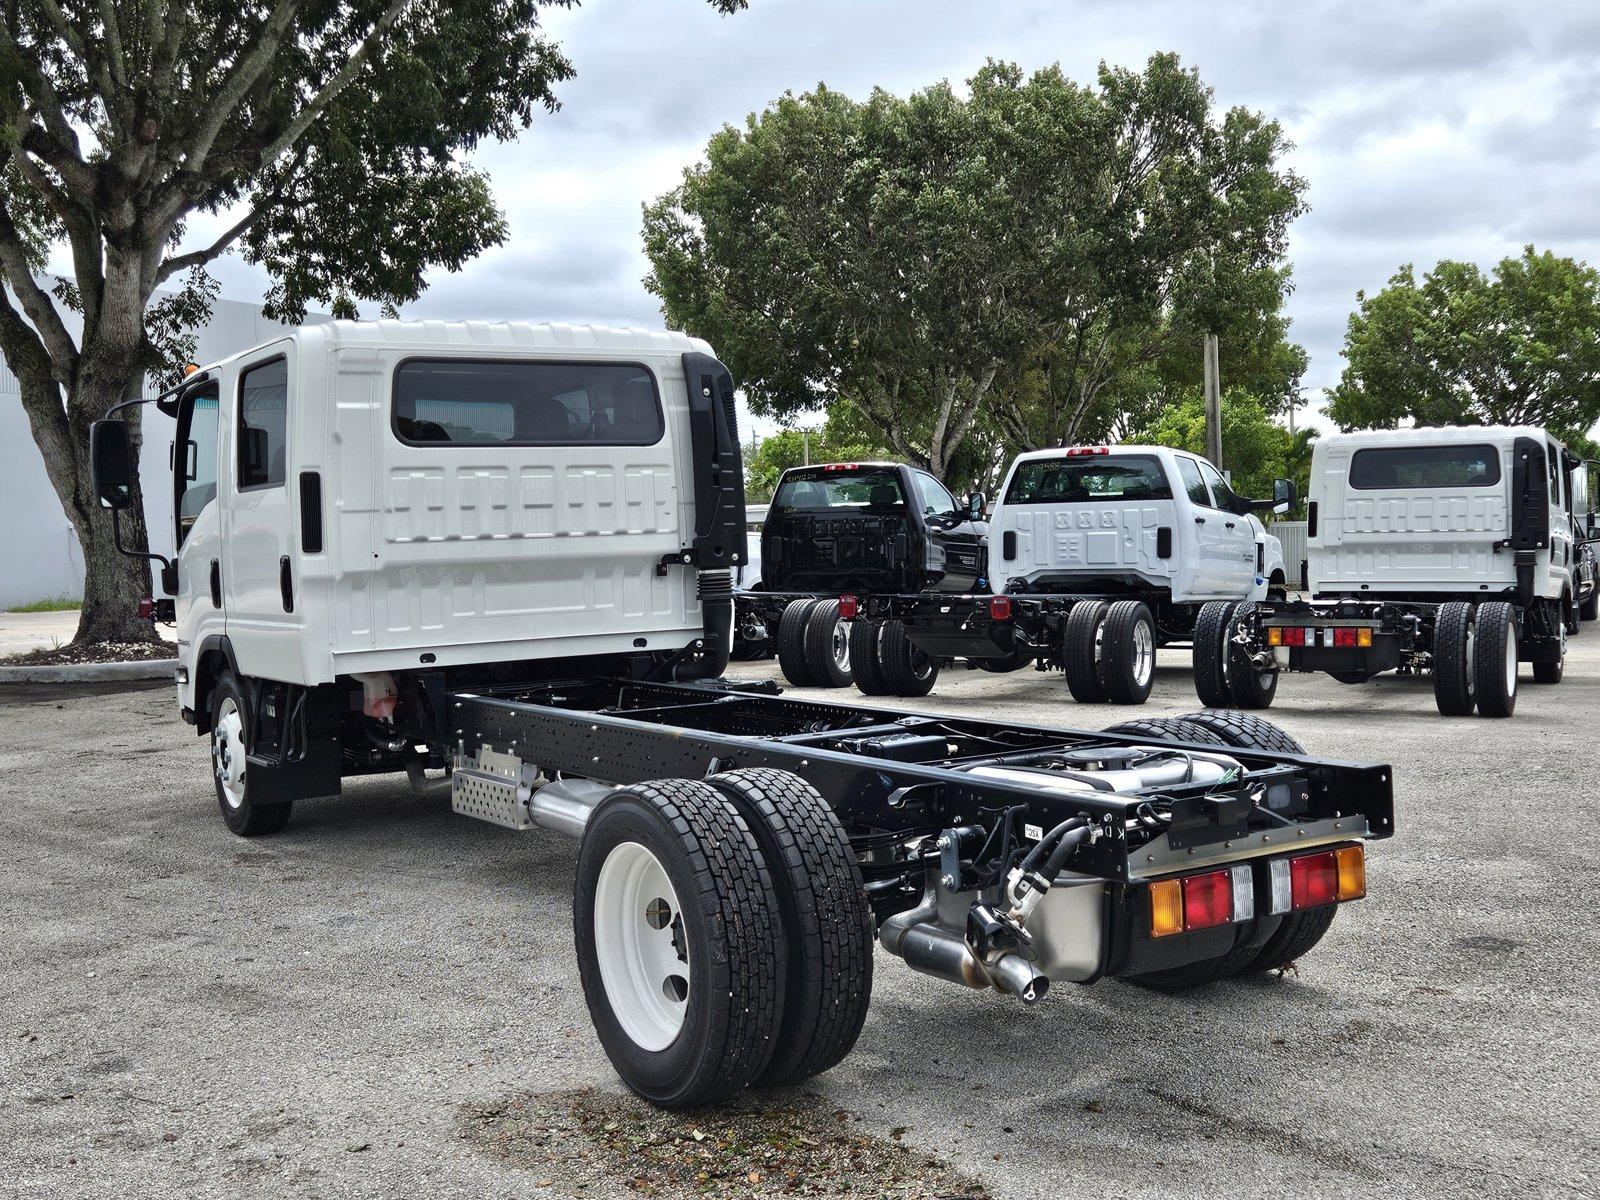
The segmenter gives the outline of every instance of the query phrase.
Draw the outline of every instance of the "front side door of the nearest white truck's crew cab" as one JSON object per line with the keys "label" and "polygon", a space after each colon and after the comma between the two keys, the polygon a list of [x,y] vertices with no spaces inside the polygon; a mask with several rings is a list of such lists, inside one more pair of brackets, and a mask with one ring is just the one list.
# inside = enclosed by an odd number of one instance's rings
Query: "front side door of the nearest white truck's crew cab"
{"label": "front side door of the nearest white truck's crew cab", "polygon": [[[178,645],[200,646],[227,632],[222,608],[222,507],[219,387],[216,382],[184,395],[173,440],[173,546],[178,560]],[[192,661],[189,654],[182,656]],[[187,702],[187,701],[186,701]]]}

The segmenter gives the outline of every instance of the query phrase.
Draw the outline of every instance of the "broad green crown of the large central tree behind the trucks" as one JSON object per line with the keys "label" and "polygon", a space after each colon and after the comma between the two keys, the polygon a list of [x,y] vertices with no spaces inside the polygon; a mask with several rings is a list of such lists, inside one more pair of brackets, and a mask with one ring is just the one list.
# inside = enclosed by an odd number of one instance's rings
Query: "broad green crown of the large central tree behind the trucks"
{"label": "broad green crown of the large central tree behind the trucks", "polygon": [[984,430],[1072,438],[1195,331],[1262,326],[1302,182],[1280,128],[1171,54],[1094,86],[990,62],[960,94],[786,94],[645,210],[646,280],[752,406],[845,397],[950,474]]}

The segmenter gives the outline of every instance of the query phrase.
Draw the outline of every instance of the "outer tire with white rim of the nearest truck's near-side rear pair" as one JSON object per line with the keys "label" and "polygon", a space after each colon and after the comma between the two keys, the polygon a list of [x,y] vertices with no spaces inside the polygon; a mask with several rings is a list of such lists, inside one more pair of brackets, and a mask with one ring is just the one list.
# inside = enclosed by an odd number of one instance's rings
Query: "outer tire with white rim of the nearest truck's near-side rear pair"
{"label": "outer tire with white rim of the nearest truck's near-side rear pair", "polygon": [[782,922],[755,837],[715,787],[661,779],[602,802],[578,850],[573,930],[600,1045],[646,1101],[720,1102],[766,1069]]}

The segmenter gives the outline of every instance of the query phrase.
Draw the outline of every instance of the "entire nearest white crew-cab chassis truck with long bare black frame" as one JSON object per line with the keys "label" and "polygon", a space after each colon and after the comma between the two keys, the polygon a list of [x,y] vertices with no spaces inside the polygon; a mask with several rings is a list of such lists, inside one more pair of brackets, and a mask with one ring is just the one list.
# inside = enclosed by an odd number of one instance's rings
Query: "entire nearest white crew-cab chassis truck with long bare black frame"
{"label": "entire nearest white crew-cab chassis truck with long bare black frame", "polygon": [[[733,395],[680,334],[400,322],[298,330],[162,395],[178,515],[154,608],[227,827],[274,834],[392,771],[579,838],[578,979],[661,1106],[838,1062],[874,941],[1035,1003],[1266,971],[1365,894],[1389,768],[1248,714],[1080,731],[720,680]],[[118,416],[91,458],[115,520]]]}

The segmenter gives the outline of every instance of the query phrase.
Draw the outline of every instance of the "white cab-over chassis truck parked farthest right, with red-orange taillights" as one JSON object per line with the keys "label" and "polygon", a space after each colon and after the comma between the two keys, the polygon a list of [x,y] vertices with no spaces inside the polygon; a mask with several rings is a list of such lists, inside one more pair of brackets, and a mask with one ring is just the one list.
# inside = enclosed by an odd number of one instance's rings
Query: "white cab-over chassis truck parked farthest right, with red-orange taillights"
{"label": "white cab-over chassis truck parked farthest right, with red-orange taillights", "polygon": [[1518,664],[1560,683],[1566,637],[1595,614],[1587,475],[1534,427],[1317,442],[1312,598],[1208,605],[1195,634],[1200,699],[1258,709],[1283,670],[1342,683],[1397,670],[1432,674],[1442,714],[1512,715]]}

